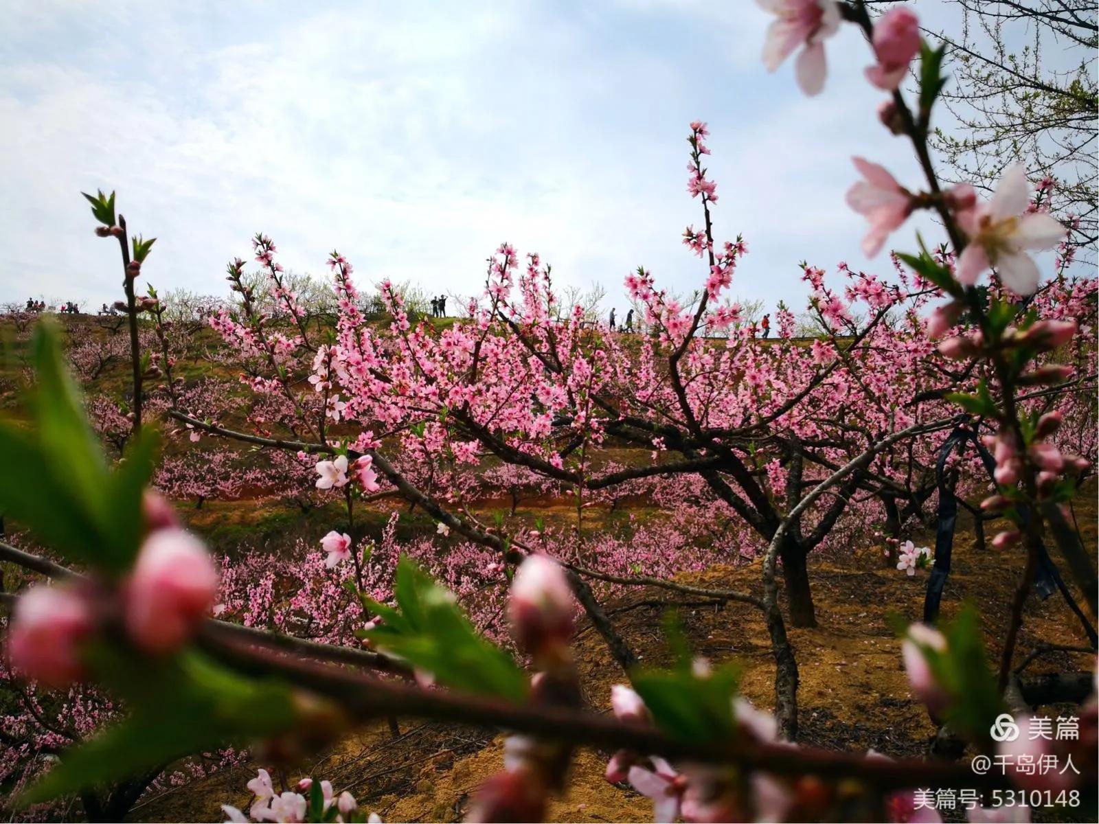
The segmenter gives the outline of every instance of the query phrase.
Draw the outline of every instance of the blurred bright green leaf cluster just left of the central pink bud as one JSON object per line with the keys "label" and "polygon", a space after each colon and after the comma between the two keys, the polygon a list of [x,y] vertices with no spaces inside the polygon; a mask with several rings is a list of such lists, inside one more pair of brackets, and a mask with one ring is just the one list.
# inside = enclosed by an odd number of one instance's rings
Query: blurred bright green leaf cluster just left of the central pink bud
{"label": "blurred bright green leaf cluster just left of the central pink bud", "polygon": [[446,687],[517,702],[526,697],[526,673],[511,655],[481,637],[454,593],[406,556],[397,565],[393,592],[397,609],[360,595],[364,608],[382,623],[355,633],[358,637],[431,672]]}

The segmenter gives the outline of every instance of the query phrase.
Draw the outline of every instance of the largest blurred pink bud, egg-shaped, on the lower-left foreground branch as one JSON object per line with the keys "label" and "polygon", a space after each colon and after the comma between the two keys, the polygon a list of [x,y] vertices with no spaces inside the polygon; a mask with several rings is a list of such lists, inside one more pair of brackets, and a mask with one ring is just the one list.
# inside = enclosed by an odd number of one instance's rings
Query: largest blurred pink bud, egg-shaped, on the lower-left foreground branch
{"label": "largest blurred pink bud, egg-shaped, on the lower-left foreground branch", "polygon": [[169,653],[191,635],[217,592],[202,542],[180,528],[158,530],[145,539],[126,587],[126,628],[146,652]]}

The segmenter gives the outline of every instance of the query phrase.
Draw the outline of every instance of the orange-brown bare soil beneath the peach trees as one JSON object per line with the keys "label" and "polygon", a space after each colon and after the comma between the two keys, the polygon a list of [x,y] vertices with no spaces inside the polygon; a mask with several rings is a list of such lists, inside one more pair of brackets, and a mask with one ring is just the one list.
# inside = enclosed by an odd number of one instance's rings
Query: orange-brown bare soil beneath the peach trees
{"label": "orange-brown bare soil beneath the peach trees", "polygon": [[[1086,546],[1096,546],[1096,486],[1081,491],[1074,504]],[[995,534],[995,524],[987,527]],[[933,536],[925,535],[924,543]],[[1056,559],[1056,558],[1055,558]],[[970,526],[959,522],[954,568],[943,597],[944,616],[966,600],[980,608],[989,655],[998,659],[993,639],[1008,620],[1022,552],[978,550]],[[798,691],[800,741],[814,746],[861,751],[875,748],[891,756],[920,756],[933,736],[922,704],[912,699],[899,657],[899,642],[889,613],[918,620],[922,612],[926,571],[908,577],[884,566],[881,547],[853,550],[842,557],[811,559],[810,576],[819,626],[791,628],[800,668]],[[759,564],[685,576],[684,582],[759,592]],[[610,604],[617,625],[645,664],[666,656],[660,615],[667,606],[642,604],[668,600],[666,591],[639,591]],[[762,615],[752,606],[685,606],[680,619],[699,655],[714,661],[737,660],[743,667],[743,693],[756,705],[774,706],[774,662]],[[1086,636],[1058,594],[1031,598],[1018,649],[1040,642],[1085,645]],[[608,655],[599,636],[581,625],[576,638],[577,665],[587,700],[609,711],[610,687],[624,673]],[[1094,657],[1055,653],[1036,660],[1029,673],[1090,669]],[[320,755],[300,771],[347,789],[368,810],[393,822],[459,821],[478,784],[502,767],[502,736],[454,725],[401,721],[393,737],[385,724],[359,731]],[[647,799],[603,780],[606,753],[580,749],[568,791],[554,800],[551,821],[651,821]],[[146,799],[133,811],[137,821],[220,821],[222,802],[242,808],[253,770],[240,767],[200,782]]]}

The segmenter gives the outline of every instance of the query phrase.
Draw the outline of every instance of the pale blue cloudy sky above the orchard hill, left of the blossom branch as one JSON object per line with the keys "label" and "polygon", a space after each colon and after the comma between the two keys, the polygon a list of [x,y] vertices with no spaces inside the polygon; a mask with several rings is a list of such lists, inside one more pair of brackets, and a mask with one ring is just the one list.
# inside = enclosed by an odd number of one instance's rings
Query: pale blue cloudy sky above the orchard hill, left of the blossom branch
{"label": "pale blue cloudy sky above the orchard hill, left of the blossom branch", "polygon": [[[807,99],[792,66],[763,69],[770,18],[748,0],[40,0],[5,18],[0,302],[121,297],[79,196],[102,188],[158,238],[144,275],[160,290],[225,293],[225,263],[263,231],[290,269],[325,277],[335,247],[360,288],[473,294],[507,240],[622,311],[639,265],[678,291],[704,280],[679,238],[700,223],[685,137],[701,119],[719,238],[750,247],[733,293],[800,308],[801,259],[890,268],[858,250],[851,155],[920,181],[875,118],[861,35],[829,41]],[[913,220],[900,245],[920,227],[940,237]]]}

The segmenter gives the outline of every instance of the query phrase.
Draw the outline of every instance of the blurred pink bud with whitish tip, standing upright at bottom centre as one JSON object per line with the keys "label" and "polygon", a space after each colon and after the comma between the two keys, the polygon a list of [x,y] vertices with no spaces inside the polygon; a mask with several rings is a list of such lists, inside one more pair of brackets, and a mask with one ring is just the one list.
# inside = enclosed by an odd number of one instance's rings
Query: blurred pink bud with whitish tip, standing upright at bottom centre
{"label": "blurred pink bud with whitish tip, standing upright at bottom centre", "polygon": [[573,614],[565,570],[544,555],[529,555],[515,572],[508,601],[517,643],[533,655],[566,645],[573,635]]}

